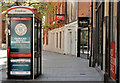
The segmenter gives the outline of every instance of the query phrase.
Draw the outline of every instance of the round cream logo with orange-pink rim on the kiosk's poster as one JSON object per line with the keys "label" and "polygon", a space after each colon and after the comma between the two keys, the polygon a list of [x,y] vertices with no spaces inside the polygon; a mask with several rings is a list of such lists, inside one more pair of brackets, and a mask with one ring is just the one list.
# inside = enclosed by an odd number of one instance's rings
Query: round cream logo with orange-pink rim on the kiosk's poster
{"label": "round cream logo with orange-pink rim on the kiosk's poster", "polygon": [[26,32],[27,32],[27,27],[26,27],[26,25],[23,24],[23,23],[17,24],[17,25],[15,26],[15,32],[16,32],[16,34],[19,35],[19,36],[25,35]]}

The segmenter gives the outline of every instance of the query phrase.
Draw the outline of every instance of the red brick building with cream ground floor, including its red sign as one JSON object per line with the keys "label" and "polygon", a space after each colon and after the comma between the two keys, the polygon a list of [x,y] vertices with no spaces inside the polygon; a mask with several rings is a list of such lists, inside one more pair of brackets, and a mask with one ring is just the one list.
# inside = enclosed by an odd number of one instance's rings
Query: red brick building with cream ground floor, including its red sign
{"label": "red brick building with cream ground floor, including its red sign", "polygon": [[43,50],[64,53],[66,2],[53,2],[53,4],[56,6],[53,12],[55,15],[48,13],[48,17],[46,17],[48,25],[53,26],[43,30]]}

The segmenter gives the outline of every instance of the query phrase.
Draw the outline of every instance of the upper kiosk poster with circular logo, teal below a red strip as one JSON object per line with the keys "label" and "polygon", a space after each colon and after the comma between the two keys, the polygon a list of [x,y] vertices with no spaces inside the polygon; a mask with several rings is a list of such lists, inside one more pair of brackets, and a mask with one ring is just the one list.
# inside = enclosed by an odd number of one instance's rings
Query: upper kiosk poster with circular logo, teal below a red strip
{"label": "upper kiosk poster with circular logo, teal below a red strip", "polygon": [[30,19],[11,18],[12,49],[30,49]]}

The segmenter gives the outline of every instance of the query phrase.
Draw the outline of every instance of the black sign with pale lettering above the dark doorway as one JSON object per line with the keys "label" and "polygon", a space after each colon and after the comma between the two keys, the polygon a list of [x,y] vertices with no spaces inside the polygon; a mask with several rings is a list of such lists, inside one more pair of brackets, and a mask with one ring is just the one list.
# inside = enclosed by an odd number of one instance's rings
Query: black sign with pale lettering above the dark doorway
{"label": "black sign with pale lettering above the dark doorway", "polygon": [[88,17],[78,17],[78,27],[85,28],[89,25]]}

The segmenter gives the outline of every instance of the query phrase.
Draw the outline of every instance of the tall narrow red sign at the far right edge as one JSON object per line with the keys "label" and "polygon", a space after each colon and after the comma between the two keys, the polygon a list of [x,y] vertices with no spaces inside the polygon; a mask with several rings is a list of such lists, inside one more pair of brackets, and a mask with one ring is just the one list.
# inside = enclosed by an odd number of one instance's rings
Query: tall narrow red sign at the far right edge
{"label": "tall narrow red sign at the far right edge", "polygon": [[116,43],[111,42],[110,76],[116,80]]}

